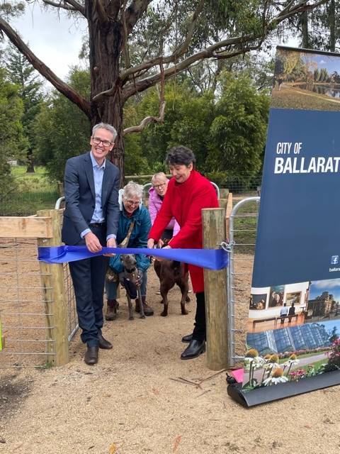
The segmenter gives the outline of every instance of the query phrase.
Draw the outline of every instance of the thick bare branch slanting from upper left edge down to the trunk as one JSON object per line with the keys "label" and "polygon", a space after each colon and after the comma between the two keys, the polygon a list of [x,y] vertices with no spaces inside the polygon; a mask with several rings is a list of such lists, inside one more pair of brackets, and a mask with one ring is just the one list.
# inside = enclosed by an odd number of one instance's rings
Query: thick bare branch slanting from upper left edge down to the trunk
{"label": "thick bare branch slanting from upper left edge down to the trunk", "polygon": [[91,109],[89,101],[86,101],[79,93],[77,93],[72,87],[65,84],[62,79],[57,77],[57,75],[50,70],[49,67],[45,65],[39,58],[33,54],[33,52],[28,48],[28,46],[23,42],[18,33],[11,28],[11,26],[4,21],[3,18],[0,18],[0,30],[4,31],[11,42],[16,45],[18,50],[25,55],[27,60],[30,62],[33,67],[35,67],[42,76],[45,77],[51,84],[64,96],[66,96],[74,104],[77,104],[79,109],[86,114],[91,119]]}

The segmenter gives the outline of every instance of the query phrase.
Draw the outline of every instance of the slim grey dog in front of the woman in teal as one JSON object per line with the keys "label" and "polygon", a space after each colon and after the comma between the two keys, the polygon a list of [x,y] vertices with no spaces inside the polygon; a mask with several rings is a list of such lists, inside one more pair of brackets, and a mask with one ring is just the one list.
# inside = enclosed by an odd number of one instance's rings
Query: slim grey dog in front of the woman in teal
{"label": "slim grey dog in front of the woman in teal", "polygon": [[126,298],[128,299],[129,320],[133,320],[133,307],[131,299],[138,298],[140,303],[140,318],[145,319],[144,308],[142,304],[142,295],[140,294],[140,281],[138,270],[136,268],[136,258],[134,254],[121,254],[120,260],[123,262],[124,271],[119,273],[120,284],[126,290]]}

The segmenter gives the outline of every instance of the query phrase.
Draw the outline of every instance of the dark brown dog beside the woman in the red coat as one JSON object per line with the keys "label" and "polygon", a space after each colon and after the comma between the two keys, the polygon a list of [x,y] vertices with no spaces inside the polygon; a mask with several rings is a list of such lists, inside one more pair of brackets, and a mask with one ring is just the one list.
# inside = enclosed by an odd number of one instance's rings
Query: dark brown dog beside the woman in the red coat
{"label": "dark brown dog beside the woman in the red coat", "polygon": [[168,292],[175,284],[181,289],[181,312],[182,315],[188,314],[186,311],[186,301],[190,301],[188,298],[188,288],[189,288],[189,272],[188,267],[183,265],[181,262],[176,262],[174,260],[154,260],[154,270],[159,277],[159,282],[161,284],[160,290],[164,303],[164,309],[161,314],[162,317],[168,315]]}

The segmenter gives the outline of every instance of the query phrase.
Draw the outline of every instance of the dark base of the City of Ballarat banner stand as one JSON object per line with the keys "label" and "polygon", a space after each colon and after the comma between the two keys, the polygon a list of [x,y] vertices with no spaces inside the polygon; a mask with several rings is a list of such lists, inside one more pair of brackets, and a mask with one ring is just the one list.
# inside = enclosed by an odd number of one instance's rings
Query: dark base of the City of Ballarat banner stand
{"label": "dark base of the City of Ballarat banner stand", "polygon": [[271,386],[243,391],[242,383],[229,384],[227,393],[239,404],[249,408],[251,406],[266,404],[285,397],[293,397],[306,392],[316,391],[340,384],[340,370],[324,372],[314,377],[303,378],[298,382],[286,382]]}

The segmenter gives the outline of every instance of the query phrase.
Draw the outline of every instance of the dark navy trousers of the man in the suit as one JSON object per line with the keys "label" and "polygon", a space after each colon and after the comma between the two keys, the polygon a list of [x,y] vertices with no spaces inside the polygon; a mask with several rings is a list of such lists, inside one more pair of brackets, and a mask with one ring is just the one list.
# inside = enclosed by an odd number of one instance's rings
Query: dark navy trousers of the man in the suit
{"label": "dark navy trousers of the man in the suit", "polygon": [[[106,245],[106,226],[91,227],[91,231]],[[77,245],[84,245],[80,240]],[[108,267],[108,257],[89,258],[69,262],[74,295],[77,303],[79,327],[82,330],[81,341],[89,347],[98,346],[98,333],[103,327],[103,292]]]}

